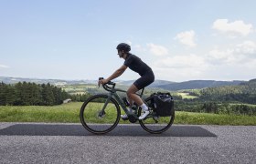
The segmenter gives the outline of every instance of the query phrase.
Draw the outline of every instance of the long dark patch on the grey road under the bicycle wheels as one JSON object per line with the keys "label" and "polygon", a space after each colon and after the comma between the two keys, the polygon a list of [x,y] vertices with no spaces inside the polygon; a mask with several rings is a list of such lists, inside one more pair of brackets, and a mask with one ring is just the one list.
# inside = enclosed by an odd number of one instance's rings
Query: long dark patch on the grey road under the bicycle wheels
{"label": "long dark patch on the grey road under the bicycle wheels", "polygon": [[[7,136],[94,136],[81,125],[16,124],[0,129],[0,135]],[[120,125],[105,136],[134,137],[217,137],[198,126],[172,126],[162,134],[150,134],[139,125]]]}

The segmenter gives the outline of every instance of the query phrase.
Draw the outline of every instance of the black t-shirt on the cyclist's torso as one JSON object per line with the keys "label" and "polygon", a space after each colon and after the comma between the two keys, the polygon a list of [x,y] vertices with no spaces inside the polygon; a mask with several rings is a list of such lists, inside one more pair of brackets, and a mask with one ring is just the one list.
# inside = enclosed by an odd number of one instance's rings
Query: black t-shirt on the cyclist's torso
{"label": "black t-shirt on the cyclist's torso", "polygon": [[148,67],[139,57],[133,54],[128,54],[123,65],[137,72],[141,77],[150,71],[152,72],[151,67]]}

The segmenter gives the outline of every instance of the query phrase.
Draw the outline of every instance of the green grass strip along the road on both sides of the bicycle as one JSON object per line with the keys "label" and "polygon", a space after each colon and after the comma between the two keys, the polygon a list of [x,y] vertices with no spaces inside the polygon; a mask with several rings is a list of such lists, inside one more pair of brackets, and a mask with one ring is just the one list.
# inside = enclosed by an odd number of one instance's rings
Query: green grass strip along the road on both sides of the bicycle
{"label": "green grass strip along the road on both sides of the bicycle", "polygon": [[[72,102],[65,105],[42,106],[0,106],[0,122],[80,122],[82,103]],[[122,112],[123,113],[123,112]],[[129,123],[121,120],[120,123]],[[220,115],[176,111],[175,124],[195,125],[256,125],[256,117]]]}

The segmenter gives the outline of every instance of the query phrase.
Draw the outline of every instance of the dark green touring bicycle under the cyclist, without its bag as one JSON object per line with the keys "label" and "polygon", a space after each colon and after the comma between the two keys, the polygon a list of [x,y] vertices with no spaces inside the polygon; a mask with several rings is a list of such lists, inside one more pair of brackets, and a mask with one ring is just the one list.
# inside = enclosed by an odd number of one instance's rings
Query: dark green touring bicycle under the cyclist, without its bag
{"label": "dark green touring bicycle under the cyclist, without its bag", "polygon": [[[120,107],[127,114],[131,123],[139,121],[144,130],[153,134],[160,134],[170,128],[175,119],[175,110],[172,111],[171,117],[159,117],[155,112],[153,98],[147,97],[144,103],[149,108],[149,115],[139,120],[142,108],[133,105],[133,112],[129,112],[125,101],[117,94],[117,92],[125,92],[125,90],[115,88],[115,83],[109,81],[102,85],[108,91],[108,94],[98,94],[89,97],[80,108],[80,122],[84,128],[93,134],[105,134],[112,131],[117,126],[121,118]],[[143,97],[144,88],[141,93],[136,93],[139,97]]]}

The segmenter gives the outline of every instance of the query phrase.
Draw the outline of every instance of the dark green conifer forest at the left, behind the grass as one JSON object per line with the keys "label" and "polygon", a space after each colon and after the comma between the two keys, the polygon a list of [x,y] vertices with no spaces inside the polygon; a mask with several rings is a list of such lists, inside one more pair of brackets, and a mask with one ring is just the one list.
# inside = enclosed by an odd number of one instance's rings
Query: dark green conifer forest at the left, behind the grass
{"label": "dark green conifer forest at the left, behind the grass", "polygon": [[53,106],[70,97],[61,87],[48,84],[18,82],[0,83],[0,106]]}

